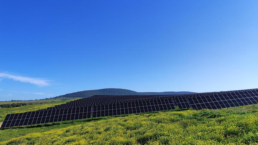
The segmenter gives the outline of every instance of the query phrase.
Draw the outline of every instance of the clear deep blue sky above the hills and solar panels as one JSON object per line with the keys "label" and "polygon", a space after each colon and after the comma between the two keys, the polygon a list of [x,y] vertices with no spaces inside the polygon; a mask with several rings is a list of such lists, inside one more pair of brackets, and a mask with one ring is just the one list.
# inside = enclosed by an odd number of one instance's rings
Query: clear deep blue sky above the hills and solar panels
{"label": "clear deep blue sky above the hills and solar panels", "polygon": [[0,1],[0,100],[258,88],[258,1]]}

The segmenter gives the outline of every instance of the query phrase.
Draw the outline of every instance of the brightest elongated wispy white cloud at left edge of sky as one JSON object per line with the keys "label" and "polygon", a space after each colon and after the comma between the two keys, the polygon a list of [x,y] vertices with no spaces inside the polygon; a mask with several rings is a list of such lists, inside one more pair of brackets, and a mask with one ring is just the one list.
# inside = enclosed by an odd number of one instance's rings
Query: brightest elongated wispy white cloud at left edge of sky
{"label": "brightest elongated wispy white cloud at left edge of sky", "polygon": [[31,83],[31,84],[41,86],[41,87],[50,85],[49,80],[17,76],[17,75],[11,75],[11,74],[6,74],[6,73],[0,73],[0,78],[13,79],[15,81],[21,81],[23,83]]}

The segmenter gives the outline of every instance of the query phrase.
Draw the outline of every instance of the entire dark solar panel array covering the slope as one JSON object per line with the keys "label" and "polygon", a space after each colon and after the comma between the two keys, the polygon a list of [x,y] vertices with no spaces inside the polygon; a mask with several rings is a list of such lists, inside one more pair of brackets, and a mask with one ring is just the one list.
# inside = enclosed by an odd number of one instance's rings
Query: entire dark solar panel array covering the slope
{"label": "entire dark solar panel array covering the slope", "polygon": [[8,114],[1,126],[14,127],[91,117],[193,108],[220,109],[258,103],[258,89],[182,95],[93,95],[47,109]]}

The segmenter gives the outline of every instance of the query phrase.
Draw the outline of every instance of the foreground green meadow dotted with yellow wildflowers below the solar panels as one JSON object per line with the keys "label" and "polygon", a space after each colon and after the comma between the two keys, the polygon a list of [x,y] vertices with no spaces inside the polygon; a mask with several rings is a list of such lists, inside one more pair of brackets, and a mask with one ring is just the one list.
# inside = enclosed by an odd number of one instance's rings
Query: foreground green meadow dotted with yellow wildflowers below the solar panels
{"label": "foreground green meadow dotted with yellow wildflowers below the solar panels", "polygon": [[0,129],[0,144],[256,144],[258,105],[170,110]]}

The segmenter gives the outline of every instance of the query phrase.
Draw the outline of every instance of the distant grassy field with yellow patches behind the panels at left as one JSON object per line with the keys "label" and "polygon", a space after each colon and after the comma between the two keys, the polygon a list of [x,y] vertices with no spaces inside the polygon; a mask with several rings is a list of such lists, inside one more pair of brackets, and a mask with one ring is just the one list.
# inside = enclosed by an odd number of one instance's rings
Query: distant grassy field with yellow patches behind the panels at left
{"label": "distant grassy field with yellow patches behind the panels at left", "polygon": [[[66,100],[64,100],[66,99]],[[78,99],[78,98],[76,98]],[[22,113],[26,111],[35,111],[39,109],[46,109],[48,107],[52,107],[55,105],[60,105],[66,102],[70,102],[72,100],[76,99],[67,99],[67,98],[55,98],[55,99],[43,99],[43,100],[31,100],[31,101],[6,101],[6,102],[0,102],[1,104],[10,104],[10,103],[34,103],[32,105],[25,105],[20,107],[14,107],[14,108],[0,108],[0,122],[4,121],[4,118],[7,114],[12,113]]]}

